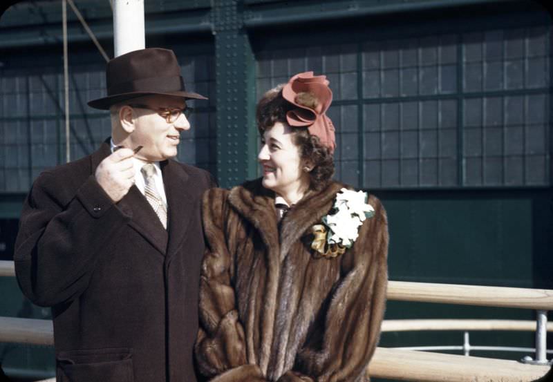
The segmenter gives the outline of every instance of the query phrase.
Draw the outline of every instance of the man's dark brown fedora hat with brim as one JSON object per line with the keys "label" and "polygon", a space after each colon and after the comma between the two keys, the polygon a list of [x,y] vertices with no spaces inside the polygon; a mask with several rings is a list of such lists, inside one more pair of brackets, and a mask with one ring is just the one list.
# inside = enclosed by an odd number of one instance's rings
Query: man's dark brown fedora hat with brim
{"label": "man's dark brown fedora hat with brim", "polygon": [[106,82],[107,97],[93,99],[88,106],[108,110],[111,105],[144,95],[207,99],[185,90],[177,57],[169,49],[140,49],[109,60]]}

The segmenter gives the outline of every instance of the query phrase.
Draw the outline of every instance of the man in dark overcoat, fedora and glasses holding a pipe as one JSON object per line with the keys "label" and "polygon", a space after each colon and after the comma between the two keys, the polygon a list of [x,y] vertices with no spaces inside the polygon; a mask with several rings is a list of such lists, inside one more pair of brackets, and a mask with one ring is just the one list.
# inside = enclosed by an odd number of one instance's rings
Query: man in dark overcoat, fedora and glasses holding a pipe
{"label": "man in dark overcoat, fedora and glasses holding a pipe", "polygon": [[21,213],[17,280],[52,307],[57,381],[195,381],[206,171],[171,160],[188,130],[174,52],[109,61],[112,135],[41,173]]}

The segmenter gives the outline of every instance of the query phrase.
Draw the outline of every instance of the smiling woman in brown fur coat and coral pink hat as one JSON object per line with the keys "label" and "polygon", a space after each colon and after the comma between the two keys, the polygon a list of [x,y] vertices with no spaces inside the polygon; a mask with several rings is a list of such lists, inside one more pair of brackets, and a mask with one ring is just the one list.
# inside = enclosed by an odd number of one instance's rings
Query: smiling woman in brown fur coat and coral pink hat
{"label": "smiling woman in brown fur coat and coral pink hat", "polygon": [[[386,213],[332,182],[324,76],[257,106],[263,178],[203,199],[198,370],[212,381],[362,381],[386,294]],[[286,210],[288,210],[286,212]]]}

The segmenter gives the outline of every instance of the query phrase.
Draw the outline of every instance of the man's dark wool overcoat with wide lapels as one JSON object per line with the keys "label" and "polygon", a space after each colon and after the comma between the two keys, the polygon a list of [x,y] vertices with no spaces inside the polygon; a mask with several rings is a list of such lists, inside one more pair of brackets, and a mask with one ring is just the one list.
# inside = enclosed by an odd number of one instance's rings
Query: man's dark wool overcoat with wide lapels
{"label": "man's dark wool overcoat with wide lapels", "polygon": [[190,382],[205,244],[206,171],[161,162],[168,231],[135,186],[113,204],[95,180],[109,141],[41,173],[15,249],[24,294],[52,307],[57,381]]}

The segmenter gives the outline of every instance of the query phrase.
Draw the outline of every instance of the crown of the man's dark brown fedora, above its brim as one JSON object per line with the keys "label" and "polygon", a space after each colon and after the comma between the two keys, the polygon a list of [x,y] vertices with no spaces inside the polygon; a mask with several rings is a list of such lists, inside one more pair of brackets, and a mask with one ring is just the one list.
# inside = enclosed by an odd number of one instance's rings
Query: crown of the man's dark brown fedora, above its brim
{"label": "crown of the man's dark brown fedora, above its brim", "polygon": [[118,84],[152,77],[178,77],[180,68],[173,50],[146,48],[111,59],[106,68],[109,89]]}

